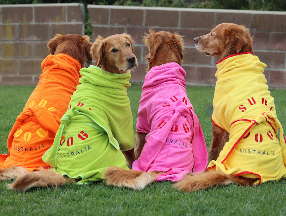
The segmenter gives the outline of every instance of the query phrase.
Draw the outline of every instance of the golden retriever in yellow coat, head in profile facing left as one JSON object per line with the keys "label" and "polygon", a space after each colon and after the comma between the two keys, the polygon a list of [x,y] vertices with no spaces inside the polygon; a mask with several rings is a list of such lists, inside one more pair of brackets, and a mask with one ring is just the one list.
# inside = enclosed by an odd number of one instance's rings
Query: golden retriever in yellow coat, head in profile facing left
{"label": "golden retriever in yellow coat, head in profile facing left", "polygon": [[194,42],[198,51],[219,59],[209,164],[207,172],[188,175],[175,187],[196,191],[235,182],[249,186],[286,176],[283,129],[263,75],[266,65],[252,54],[249,30],[223,23]]}

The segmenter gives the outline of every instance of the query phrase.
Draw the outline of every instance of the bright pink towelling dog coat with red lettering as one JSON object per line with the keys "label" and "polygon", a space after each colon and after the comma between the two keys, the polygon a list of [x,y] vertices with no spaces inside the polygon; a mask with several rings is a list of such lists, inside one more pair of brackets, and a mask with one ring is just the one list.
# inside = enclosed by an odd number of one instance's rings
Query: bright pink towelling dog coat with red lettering
{"label": "bright pink towelling dog coat with red lettering", "polygon": [[165,172],[156,181],[178,181],[207,166],[206,143],[187,97],[185,75],[179,64],[167,63],[152,67],[142,86],[136,128],[148,135],[132,169]]}

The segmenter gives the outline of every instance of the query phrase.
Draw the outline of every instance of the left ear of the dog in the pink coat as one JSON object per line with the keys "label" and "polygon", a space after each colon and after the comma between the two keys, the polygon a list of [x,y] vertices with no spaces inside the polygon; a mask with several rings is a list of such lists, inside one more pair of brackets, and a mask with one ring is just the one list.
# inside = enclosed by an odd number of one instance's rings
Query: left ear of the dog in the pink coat
{"label": "left ear of the dog in the pink coat", "polygon": [[149,34],[145,33],[144,44],[149,48],[149,54],[146,55],[148,63],[152,62],[157,49],[163,44],[163,39],[156,35],[153,29],[149,29]]}

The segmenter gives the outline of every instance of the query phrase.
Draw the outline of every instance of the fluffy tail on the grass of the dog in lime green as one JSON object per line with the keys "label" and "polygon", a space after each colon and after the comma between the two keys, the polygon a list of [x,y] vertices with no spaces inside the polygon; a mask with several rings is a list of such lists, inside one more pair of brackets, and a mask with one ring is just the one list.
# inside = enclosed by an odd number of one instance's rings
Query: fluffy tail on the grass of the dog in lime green
{"label": "fluffy tail on the grass of the dog in lime green", "polygon": [[7,187],[11,190],[19,190],[21,192],[28,191],[32,188],[46,188],[51,186],[56,188],[67,183],[67,180],[59,173],[52,170],[40,169],[35,172],[27,172],[15,179]]}

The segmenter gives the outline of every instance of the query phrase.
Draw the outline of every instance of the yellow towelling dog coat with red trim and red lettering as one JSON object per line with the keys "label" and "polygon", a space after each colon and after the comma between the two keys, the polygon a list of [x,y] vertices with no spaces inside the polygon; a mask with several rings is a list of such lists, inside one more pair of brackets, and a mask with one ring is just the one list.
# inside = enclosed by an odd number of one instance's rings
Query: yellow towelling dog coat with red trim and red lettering
{"label": "yellow towelling dog coat with red trim and red lettering", "polygon": [[217,160],[210,161],[208,171],[259,178],[255,184],[286,176],[286,141],[263,75],[265,67],[252,53],[217,63],[212,121],[229,133],[229,141]]}

